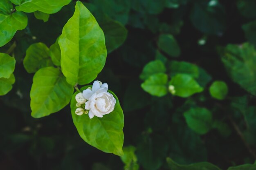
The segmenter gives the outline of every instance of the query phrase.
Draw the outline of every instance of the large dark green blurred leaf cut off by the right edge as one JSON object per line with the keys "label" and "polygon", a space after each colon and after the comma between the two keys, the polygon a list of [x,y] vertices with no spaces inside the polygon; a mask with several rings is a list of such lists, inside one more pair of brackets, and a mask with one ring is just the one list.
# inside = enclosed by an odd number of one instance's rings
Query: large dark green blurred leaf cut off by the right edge
{"label": "large dark green blurred leaf cut off by the right edge", "polygon": [[231,79],[249,93],[256,95],[256,50],[253,45],[228,44],[220,54]]}

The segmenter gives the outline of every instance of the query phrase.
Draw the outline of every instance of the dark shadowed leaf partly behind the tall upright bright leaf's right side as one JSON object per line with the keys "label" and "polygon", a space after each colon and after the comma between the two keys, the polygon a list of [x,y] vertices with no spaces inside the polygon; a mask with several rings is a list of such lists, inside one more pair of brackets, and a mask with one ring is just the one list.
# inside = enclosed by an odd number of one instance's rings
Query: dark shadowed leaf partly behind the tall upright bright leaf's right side
{"label": "dark shadowed leaf partly behind the tall upright bright leaf's right side", "polygon": [[100,26],[105,33],[108,53],[117,49],[126,40],[127,29],[120,22],[105,17]]}

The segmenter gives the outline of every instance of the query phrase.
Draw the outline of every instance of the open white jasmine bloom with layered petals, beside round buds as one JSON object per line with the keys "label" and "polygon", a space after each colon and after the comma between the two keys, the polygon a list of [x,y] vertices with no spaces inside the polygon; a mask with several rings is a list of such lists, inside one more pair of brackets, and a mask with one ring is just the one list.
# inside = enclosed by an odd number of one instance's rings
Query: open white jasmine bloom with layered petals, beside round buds
{"label": "open white jasmine bloom with layered petals, beside round buds", "polygon": [[115,108],[116,99],[111,93],[108,93],[108,84],[94,81],[92,90],[83,91],[83,97],[88,101],[85,103],[85,109],[89,110],[89,117],[103,117]]}

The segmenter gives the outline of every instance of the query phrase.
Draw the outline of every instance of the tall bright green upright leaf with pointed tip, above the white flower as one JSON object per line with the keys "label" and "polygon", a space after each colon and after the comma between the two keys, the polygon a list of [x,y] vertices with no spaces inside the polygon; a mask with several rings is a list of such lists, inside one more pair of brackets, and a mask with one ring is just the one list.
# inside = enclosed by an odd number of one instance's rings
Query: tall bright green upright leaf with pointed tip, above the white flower
{"label": "tall bright green upright leaf with pointed tip, above the white flower", "polygon": [[74,15],[59,37],[61,69],[71,85],[88,84],[102,70],[107,56],[104,33],[90,11],[76,2]]}

